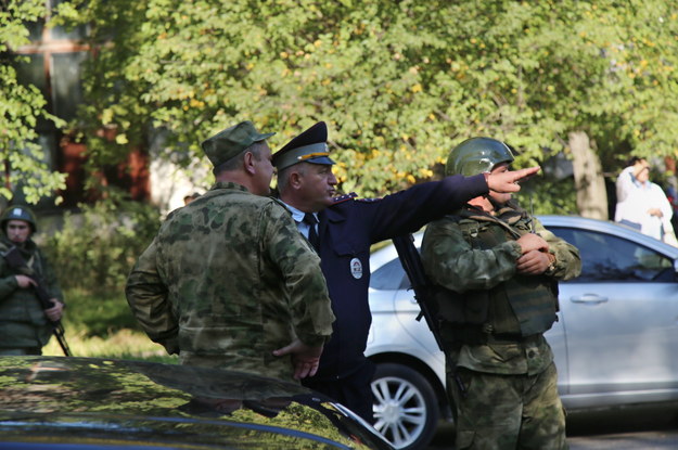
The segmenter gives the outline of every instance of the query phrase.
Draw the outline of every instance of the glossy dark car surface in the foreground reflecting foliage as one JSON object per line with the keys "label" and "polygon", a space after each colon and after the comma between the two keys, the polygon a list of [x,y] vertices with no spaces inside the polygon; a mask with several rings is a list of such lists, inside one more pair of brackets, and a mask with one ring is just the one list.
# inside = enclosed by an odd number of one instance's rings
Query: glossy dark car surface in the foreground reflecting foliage
{"label": "glossy dark car surface in the foreground reflecting foliage", "polygon": [[342,406],[291,383],[64,357],[0,357],[0,442],[3,449],[389,448]]}

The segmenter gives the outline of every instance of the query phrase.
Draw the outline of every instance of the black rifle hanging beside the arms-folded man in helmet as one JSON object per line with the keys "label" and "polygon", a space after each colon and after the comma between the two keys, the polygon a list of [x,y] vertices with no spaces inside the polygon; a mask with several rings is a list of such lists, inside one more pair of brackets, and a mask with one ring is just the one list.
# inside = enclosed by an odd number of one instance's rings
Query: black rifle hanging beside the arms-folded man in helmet
{"label": "black rifle hanging beside the arms-folded man in helmet", "polygon": [[443,348],[443,340],[440,338],[440,329],[438,326],[438,307],[433,299],[431,292],[433,285],[424,273],[421,257],[414,246],[414,236],[412,236],[412,234],[405,234],[394,237],[393,244],[396,247],[396,252],[398,252],[400,263],[410,279],[412,291],[414,291],[414,298],[421,309],[417,316],[417,321],[421,321],[422,317],[426,320],[428,330],[433,333],[433,337],[435,337],[438,348],[440,351],[445,352],[445,349]]}

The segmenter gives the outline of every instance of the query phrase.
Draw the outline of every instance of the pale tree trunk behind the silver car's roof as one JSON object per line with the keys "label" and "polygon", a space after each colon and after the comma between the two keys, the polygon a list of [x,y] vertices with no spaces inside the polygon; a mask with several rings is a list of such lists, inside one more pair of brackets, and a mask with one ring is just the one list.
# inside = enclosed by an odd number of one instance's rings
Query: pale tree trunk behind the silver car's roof
{"label": "pale tree trunk behind the silver car's roof", "polygon": [[589,137],[584,131],[570,136],[573,156],[577,207],[581,217],[607,220],[607,193],[600,158],[591,149]]}

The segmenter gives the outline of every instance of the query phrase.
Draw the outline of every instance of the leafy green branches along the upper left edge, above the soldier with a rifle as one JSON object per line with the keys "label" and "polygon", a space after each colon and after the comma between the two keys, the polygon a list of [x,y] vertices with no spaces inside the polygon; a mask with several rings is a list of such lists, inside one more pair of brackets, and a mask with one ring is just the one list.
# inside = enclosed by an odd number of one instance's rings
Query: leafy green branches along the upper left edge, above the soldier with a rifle
{"label": "leafy green branches along the upper left edge, above the soldier with a rifle", "polygon": [[[17,81],[14,65],[21,57],[11,50],[28,43],[26,23],[47,14],[43,0],[10,0],[0,9],[0,158],[9,165],[9,182],[20,185],[28,203],[38,203],[59,189],[65,189],[65,175],[51,171],[40,144],[36,125],[40,119],[64,123],[49,114],[47,101],[35,86]],[[0,187],[0,197],[12,192]]]}

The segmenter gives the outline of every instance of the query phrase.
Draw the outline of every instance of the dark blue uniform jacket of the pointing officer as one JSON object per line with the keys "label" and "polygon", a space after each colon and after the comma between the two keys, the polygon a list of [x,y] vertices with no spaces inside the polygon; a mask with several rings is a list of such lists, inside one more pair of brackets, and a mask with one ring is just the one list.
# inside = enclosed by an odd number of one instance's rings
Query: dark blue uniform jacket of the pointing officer
{"label": "dark blue uniform jacket of the pointing officer", "polygon": [[452,176],[380,200],[340,197],[320,213],[319,253],[336,320],[317,380],[342,378],[366,362],[363,352],[372,323],[368,304],[370,246],[414,232],[487,192],[483,175]]}

